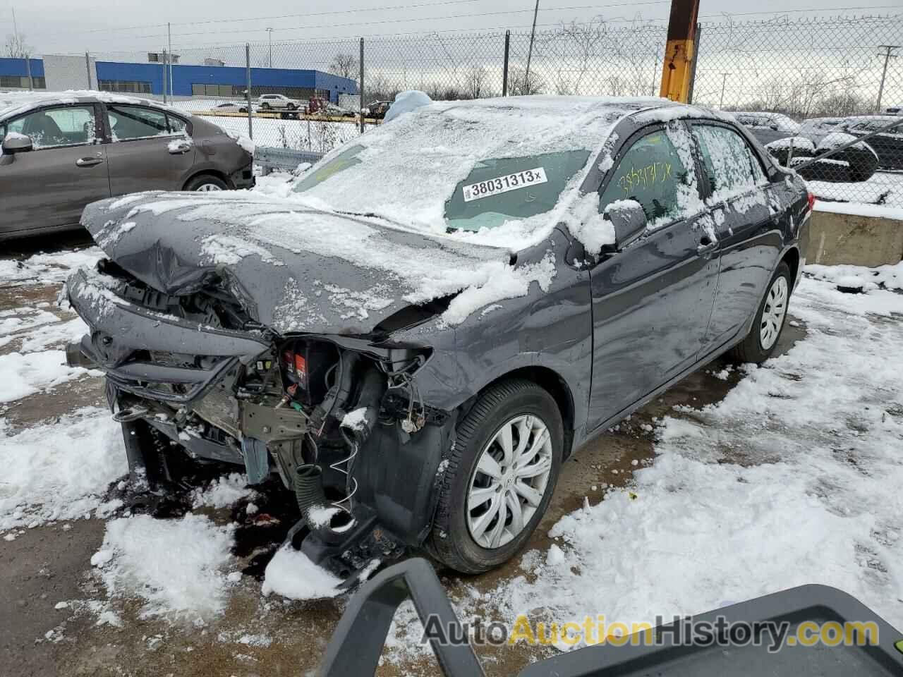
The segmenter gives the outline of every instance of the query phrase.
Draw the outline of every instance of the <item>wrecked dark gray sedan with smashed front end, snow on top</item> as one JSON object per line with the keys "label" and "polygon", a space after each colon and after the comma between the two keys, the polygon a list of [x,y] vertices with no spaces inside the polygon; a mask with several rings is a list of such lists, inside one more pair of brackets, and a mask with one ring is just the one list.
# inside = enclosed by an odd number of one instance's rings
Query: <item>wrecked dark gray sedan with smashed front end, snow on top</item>
{"label": "wrecked dark gray sedan with smashed front end, snow on top", "polygon": [[281,478],[293,545],[342,577],[406,548],[485,571],[583,442],[713,357],[768,358],[810,209],[703,109],[433,103],[291,185],[90,205],[107,258],[68,282],[68,353],[151,491],[234,463]]}

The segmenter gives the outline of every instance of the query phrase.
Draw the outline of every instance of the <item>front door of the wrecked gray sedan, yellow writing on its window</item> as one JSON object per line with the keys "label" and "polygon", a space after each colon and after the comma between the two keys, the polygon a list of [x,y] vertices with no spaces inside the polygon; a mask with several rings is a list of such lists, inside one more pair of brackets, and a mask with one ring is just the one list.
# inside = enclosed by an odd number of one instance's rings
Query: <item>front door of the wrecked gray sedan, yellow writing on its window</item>
{"label": "front door of the wrecked gray sedan, yellow writing on its window", "polygon": [[696,362],[718,282],[693,143],[683,123],[647,127],[623,146],[600,209],[635,199],[647,232],[591,270],[588,428],[597,428]]}

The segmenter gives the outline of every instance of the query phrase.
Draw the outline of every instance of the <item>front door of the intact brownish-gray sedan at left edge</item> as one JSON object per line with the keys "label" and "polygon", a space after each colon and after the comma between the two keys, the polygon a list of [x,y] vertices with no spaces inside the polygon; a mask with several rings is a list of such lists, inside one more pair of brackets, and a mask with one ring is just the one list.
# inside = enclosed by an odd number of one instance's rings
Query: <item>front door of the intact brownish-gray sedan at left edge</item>
{"label": "front door of the intact brownish-gray sedan at left edge", "polygon": [[107,155],[97,143],[93,104],[40,108],[7,121],[0,131],[25,134],[33,146],[0,163],[0,230],[75,225],[85,205],[109,197]]}

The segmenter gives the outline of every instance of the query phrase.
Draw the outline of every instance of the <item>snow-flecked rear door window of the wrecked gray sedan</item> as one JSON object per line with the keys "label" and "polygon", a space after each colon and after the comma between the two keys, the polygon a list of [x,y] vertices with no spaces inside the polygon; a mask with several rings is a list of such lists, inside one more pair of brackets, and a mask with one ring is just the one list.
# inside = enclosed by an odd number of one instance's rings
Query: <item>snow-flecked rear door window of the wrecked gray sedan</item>
{"label": "snow-flecked rear door window of the wrecked gray sedan", "polygon": [[765,180],[759,158],[739,133],[721,125],[693,125],[693,135],[714,199],[745,192]]}

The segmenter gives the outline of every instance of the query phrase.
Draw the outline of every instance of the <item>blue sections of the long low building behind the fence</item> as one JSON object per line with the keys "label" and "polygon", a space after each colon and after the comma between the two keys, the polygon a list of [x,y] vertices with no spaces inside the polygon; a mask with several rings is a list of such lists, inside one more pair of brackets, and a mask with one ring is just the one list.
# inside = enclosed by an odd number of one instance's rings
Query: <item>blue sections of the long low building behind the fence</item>
{"label": "blue sections of the long low building behind the fence", "polygon": [[[41,59],[30,60],[33,88],[69,88],[46,81]],[[94,63],[99,89],[127,94],[163,95],[163,64]],[[84,70],[82,70],[84,72]],[[93,84],[93,83],[92,83]],[[28,88],[28,68],[24,59],[0,59],[0,88]],[[247,88],[247,71],[234,66],[172,65],[174,97],[243,97]],[[357,94],[357,83],[320,70],[251,69],[251,96],[284,94],[306,99],[323,97],[338,102],[340,94]]]}

